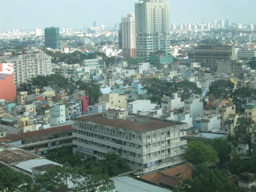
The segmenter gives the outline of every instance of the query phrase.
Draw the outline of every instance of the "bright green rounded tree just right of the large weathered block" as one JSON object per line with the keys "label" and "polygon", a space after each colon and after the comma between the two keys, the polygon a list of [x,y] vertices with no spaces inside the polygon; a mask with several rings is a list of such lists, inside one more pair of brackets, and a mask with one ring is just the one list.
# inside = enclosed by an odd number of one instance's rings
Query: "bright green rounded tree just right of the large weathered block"
{"label": "bright green rounded tree just right of the large weathered block", "polygon": [[214,163],[217,161],[217,152],[211,146],[204,145],[203,142],[195,140],[187,144],[185,156],[193,164]]}

